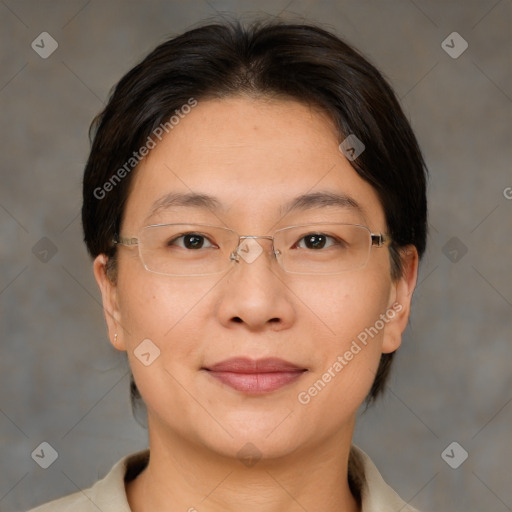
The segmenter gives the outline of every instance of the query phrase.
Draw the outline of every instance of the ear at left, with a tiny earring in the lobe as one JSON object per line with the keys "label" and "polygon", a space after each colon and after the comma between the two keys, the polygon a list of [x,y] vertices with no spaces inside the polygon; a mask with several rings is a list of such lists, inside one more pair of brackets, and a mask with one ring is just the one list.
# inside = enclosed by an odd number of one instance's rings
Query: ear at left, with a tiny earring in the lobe
{"label": "ear at left, with a tiny earring in the lobe", "polygon": [[101,292],[103,313],[107,322],[110,343],[117,350],[124,351],[126,347],[124,345],[124,331],[121,326],[121,311],[117,299],[117,286],[107,275],[107,262],[108,257],[105,254],[96,257],[93,263],[94,277]]}

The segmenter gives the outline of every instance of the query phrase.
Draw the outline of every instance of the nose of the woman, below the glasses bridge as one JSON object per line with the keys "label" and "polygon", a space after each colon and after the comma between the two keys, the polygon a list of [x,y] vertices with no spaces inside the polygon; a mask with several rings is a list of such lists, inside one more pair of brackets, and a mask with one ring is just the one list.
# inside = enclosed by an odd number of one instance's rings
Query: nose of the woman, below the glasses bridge
{"label": "nose of the woman, below the glasses bridge", "polygon": [[217,308],[224,326],[280,331],[295,321],[293,294],[285,285],[286,278],[276,264],[272,247],[270,236],[240,237],[239,246],[230,256],[234,265],[223,280]]}

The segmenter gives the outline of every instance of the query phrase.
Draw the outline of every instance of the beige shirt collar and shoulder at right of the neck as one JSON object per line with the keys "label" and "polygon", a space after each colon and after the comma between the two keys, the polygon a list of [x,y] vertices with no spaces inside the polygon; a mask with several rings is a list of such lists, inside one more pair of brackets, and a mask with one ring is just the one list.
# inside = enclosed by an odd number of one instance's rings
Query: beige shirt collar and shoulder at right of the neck
{"label": "beige shirt collar and shoulder at right of the neck", "polygon": [[398,496],[370,457],[357,446],[350,451],[349,478],[360,493],[362,512],[419,512]]}

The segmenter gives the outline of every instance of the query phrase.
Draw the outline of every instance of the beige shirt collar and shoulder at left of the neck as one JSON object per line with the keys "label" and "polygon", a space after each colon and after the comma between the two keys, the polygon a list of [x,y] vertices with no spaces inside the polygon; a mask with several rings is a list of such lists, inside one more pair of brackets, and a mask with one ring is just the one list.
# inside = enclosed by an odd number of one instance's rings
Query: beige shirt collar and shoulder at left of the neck
{"label": "beige shirt collar and shoulder at left of the neck", "polygon": [[149,450],[123,457],[105,478],[92,487],[51,501],[29,512],[130,512],[125,481],[135,478],[147,465]]}

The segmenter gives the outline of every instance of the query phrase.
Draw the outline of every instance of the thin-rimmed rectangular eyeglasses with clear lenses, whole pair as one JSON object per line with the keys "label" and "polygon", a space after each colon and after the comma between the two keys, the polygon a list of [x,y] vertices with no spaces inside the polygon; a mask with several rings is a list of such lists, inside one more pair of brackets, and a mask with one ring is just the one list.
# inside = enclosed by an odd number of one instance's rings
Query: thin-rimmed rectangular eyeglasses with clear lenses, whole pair
{"label": "thin-rimmed rectangular eyeglasses with clear lenses, whole pair", "polygon": [[208,224],[156,224],[137,238],[116,235],[116,245],[139,247],[144,268],[168,276],[207,276],[227,271],[233,262],[252,263],[263,252],[257,239],[272,241],[273,254],[285,272],[339,274],[363,268],[372,246],[390,242],[360,224],[303,224],[279,229],[274,236],[241,236]]}

